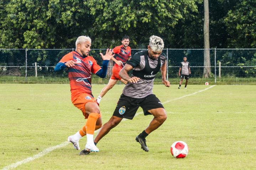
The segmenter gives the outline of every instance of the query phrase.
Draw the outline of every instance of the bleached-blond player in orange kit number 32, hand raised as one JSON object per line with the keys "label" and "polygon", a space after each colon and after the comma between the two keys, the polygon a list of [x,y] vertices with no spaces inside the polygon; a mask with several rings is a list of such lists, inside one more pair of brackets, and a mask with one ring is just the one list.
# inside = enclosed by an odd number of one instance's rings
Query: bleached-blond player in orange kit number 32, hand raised
{"label": "bleached-blond player in orange kit number 32, hand raised", "polygon": [[111,49],[107,49],[105,55],[100,53],[103,59],[101,68],[96,60],[89,56],[91,42],[92,40],[88,36],[79,36],[75,42],[75,51],[62,57],[54,70],[68,69],[72,103],[83,112],[85,119],[87,119],[82,129],[68,137],[68,142],[71,142],[74,148],[79,150],[79,140],[86,135],[85,150],[99,152],[99,149],[94,145],[93,134],[94,130],[101,128],[102,120],[99,106],[92,95],[91,76],[94,73],[105,78],[109,60],[114,55]]}

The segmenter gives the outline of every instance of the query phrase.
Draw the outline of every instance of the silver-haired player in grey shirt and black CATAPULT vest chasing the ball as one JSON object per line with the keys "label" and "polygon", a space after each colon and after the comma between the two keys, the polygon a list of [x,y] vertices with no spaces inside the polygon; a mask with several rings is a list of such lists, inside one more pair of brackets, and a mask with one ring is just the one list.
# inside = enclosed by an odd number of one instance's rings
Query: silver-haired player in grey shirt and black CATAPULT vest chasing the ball
{"label": "silver-haired player in grey shirt and black CATAPULT vest chasing the ball", "polygon": [[[144,151],[148,152],[145,138],[160,127],[167,118],[162,103],[152,91],[153,81],[159,70],[162,73],[163,84],[166,87],[170,87],[170,82],[166,80],[166,57],[161,55],[163,47],[163,40],[158,36],[152,35],[148,50],[136,53],[121,69],[119,75],[128,83],[117,102],[113,116],[103,125],[94,139],[95,144],[108,134],[112,128],[117,126],[123,118],[132,119],[137,109],[142,107],[144,115],[152,114],[154,118],[135,140],[140,143]],[[127,73],[130,70],[132,70],[132,77]]]}

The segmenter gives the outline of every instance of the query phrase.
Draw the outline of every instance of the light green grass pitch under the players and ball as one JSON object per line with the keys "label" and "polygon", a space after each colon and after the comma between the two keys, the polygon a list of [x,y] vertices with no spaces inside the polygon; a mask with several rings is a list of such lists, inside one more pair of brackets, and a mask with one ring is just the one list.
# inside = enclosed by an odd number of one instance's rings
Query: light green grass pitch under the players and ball
{"label": "light green grass pitch under the players and ball", "polygon": [[[93,85],[95,97],[103,87]],[[103,123],[123,87],[114,86],[101,100]],[[255,169],[256,86],[217,85],[202,92],[209,86],[177,87],[154,86],[154,94],[165,103],[167,120],[146,138],[149,152],[135,137],[152,115],[139,114],[111,130],[98,143],[99,153],[79,156],[68,144],[16,169]],[[67,84],[0,84],[0,94],[0,169],[60,145],[85,124],[70,101]],[[189,146],[184,159],[170,153],[179,140]],[[81,149],[85,143],[86,137],[80,140]]]}

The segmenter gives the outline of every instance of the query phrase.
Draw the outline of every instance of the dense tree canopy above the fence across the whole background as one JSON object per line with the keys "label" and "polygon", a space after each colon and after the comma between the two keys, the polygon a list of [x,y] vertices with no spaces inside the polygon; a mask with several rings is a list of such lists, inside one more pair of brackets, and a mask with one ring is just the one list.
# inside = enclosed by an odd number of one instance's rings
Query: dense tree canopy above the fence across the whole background
{"label": "dense tree canopy above the fence across the whole background", "polygon": [[[255,48],[256,1],[210,2],[210,47]],[[165,48],[203,48],[202,0],[2,0],[0,48],[75,47],[80,35],[92,48],[114,47],[124,35],[146,48],[151,35]]]}

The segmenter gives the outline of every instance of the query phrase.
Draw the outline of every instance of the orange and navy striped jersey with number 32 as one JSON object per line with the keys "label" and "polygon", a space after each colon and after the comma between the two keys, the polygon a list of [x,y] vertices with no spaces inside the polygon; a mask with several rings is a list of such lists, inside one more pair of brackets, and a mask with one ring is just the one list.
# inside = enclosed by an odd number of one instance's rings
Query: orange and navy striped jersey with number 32
{"label": "orange and navy striped jersey with number 32", "polygon": [[63,56],[62,63],[73,60],[75,66],[68,68],[68,78],[70,82],[71,98],[78,94],[87,93],[92,95],[92,73],[97,73],[101,67],[97,64],[96,60],[91,57],[82,57],[78,52],[72,51]]}

